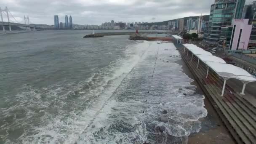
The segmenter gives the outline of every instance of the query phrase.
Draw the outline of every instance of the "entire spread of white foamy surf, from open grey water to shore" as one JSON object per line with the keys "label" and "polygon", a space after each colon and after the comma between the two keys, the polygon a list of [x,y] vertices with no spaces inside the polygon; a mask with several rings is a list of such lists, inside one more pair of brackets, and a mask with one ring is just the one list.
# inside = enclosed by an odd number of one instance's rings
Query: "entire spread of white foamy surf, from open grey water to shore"
{"label": "entire spread of white foamy surf, from open grey water to shore", "polygon": [[[59,83],[40,90],[24,85],[25,91],[16,95],[17,104],[1,109],[6,117],[18,110],[24,115],[17,115],[13,125],[4,127],[23,123],[26,130],[18,139],[24,144],[155,143],[152,137],[157,135],[157,126],[165,126],[165,134],[171,136],[199,131],[198,119],[207,115],[204,96],[183,95],[193,92],[184,88],[193,80],[174,63],[181,59],[174,45],[140,41],[124,53],[125,58],[78,84]],[[159,121],[163,109],[168,111],[164,116],[169,123]],[[3,138],[11,143],[7,135]]]}

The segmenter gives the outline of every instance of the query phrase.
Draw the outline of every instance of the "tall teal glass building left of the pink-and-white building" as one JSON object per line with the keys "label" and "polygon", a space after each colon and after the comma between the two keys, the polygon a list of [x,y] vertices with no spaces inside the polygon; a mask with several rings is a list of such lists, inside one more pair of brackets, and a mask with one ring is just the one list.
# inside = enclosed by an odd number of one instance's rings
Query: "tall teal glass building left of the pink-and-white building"
{"label": "tall teal glass building left of the pink-and-white building", "polygon": [[[205,40],[218,44],[221,27],[232,25],[232,19],[241,19],[245,0],[215,0],[211,5],[208,34]],[[222,37],[224,41],[225,37]]]}

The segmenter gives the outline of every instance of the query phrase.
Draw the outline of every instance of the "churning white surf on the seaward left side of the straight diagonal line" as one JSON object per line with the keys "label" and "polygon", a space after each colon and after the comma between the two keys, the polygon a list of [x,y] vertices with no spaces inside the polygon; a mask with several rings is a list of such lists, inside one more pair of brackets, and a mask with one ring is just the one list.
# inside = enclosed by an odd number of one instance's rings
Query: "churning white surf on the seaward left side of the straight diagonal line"
{"label": "churning white surf on the seaward left side of the straight diagonal line", "polygon": [[[137,49],[138,45],[142,48]],[[9,107],[0,111],[0,140],[6,144],[75,143],[145,53],[143,45],[148,43],[129,45],[125,57],[97,69],[88,80],[62,81],[42,89],[24,85],[15,99],[5,101]]]}

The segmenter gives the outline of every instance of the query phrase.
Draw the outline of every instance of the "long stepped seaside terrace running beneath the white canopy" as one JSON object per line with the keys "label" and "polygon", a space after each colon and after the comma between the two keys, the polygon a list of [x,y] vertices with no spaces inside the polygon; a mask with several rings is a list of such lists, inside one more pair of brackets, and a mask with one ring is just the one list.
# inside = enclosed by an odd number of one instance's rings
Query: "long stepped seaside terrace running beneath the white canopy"
{"label": "long stepped seaside terrace running beneath the white canopy", "polygon": [[221,77],[189,48],[179,43],[175,43],[175,45],[233,139],[238,144],[255,143],[256,98],[244,93],[248,82],[243,81],[242,88],[233,87],[235,83],[242,82],[233,78],[228,80],[227,77]]}

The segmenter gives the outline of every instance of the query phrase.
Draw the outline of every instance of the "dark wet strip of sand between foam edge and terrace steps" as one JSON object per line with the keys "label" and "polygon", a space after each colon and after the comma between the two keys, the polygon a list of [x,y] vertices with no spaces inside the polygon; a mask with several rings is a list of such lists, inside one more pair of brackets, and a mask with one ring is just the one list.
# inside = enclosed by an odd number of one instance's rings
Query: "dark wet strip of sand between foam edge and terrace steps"
{"label": "dark wet strip of sand between foam edge and terrace steps", "polygon": [[[190,72],[183,59],[176,61],[176,63],[181,64],[183,72],[194,80],[191,84],[197,86],[196,92],[205,96],[200,85],[195,81],[194,75]],[[221,122],[206,96],[204,103],[205,109],[208,111],[208,115],[200,119],[202,128],[199,133],[192,133],[189,135],[188,144],[235,144],[235,141],[224,127],[224,124]]]}

